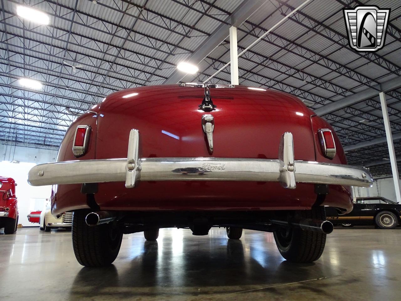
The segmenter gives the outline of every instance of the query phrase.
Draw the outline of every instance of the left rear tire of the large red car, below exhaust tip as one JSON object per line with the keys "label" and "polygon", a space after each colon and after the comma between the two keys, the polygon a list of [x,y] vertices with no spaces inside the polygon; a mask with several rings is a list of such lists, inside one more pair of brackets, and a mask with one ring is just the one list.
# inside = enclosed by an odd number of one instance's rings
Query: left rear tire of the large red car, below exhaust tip
{"label": "left rear tire of the large red car, below exhaust tip", "polygon": [[72,240],[75,257],[83,266],[108,266],[121,247],[122,230],[113,223],[88,226],[89,210],[77,210],[73,215]]}

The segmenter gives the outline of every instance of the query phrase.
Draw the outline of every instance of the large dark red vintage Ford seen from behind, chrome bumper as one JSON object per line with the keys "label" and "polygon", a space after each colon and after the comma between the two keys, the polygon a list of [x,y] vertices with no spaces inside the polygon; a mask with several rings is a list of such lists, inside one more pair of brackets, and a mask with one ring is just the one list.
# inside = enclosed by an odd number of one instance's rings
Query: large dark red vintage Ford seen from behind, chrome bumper
{"label": "large dark red vintage Ford seen from behind, chrome bumper", "polygon": [[[29,172],[54,185],[52,213],[73,211],[80,264],[117,257],[123,234],[213,226],[273,232],[294,262],[320,257],[332,224],[324,205],[352,210],[347,165],[332,127],[296,97],[261,88],[180,83],[115,92],[67,130],[56,163]],[[125,182],[125,183],[124,183]]]}

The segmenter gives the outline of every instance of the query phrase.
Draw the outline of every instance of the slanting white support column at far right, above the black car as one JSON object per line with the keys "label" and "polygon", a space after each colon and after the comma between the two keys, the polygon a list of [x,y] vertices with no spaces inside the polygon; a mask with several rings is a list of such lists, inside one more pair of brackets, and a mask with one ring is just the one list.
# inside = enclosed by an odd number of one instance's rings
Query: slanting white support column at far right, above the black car
{"label": "slanting white support column at far right, above the black car", "polygon": [[395,158],[393,135],[391,134],[389,112],[387,111],[386,96],[385,96],[384,92],[380,92],[379,96],[380,96],[380,103],[381,103],[381,111],[383,112],[384,127],[386,129],[387,146],[389,148],[391,170],[393,171],[395,196],[397,198],[397,202],[401,203],[400,180],[399,180],[399,175],[398,175],[397,159]]}

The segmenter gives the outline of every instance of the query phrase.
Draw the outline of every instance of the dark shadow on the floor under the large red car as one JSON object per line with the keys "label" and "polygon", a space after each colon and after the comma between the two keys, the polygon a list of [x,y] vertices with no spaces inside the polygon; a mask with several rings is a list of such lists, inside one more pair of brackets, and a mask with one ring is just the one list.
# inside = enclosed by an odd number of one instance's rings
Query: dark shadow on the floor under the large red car
{"label": "dark shadow on the floor under the large red car", "polygon": [[[210,239],[204,244],[182,240],[144,242],[128,266],[82,268],[71,287],[70,299],[184,297],[233,293],[282,283],[324,277],[321,264],[294,264],[264,244]],[[264,243],[264,242],[263,242]],[[275,248],[275,244],[273,246]],[[178,251],[174,251],[178,248]],[[273,253],[273,254],[271,254]],[[327,296],[330,297],[330,296]]]}

